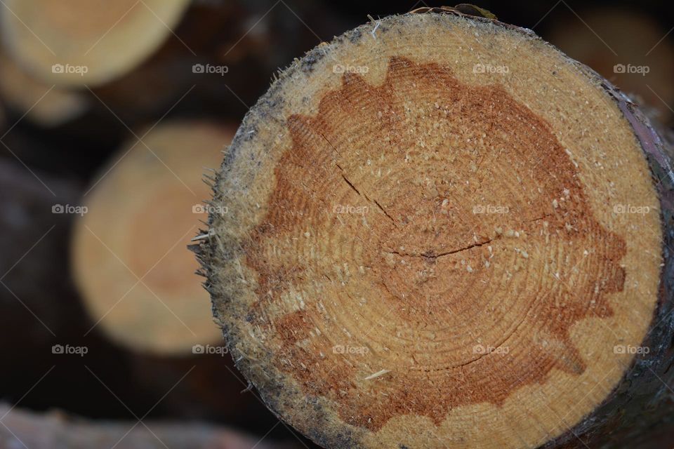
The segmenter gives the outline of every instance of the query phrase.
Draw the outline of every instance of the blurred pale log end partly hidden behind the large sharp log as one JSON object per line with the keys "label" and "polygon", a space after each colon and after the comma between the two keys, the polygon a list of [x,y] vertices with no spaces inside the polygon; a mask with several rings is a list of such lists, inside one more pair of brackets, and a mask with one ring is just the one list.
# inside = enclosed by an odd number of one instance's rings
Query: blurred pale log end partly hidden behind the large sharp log
{"label": "blurred pale log end partly hidden behind the large sharp log", "polygon": [[206,218],[204,168],[232,135],[207,122],[162,123],[121,149],[85,194],[74,279],[92,322],[118,344],[169,355],[220,340],[182,243]]}

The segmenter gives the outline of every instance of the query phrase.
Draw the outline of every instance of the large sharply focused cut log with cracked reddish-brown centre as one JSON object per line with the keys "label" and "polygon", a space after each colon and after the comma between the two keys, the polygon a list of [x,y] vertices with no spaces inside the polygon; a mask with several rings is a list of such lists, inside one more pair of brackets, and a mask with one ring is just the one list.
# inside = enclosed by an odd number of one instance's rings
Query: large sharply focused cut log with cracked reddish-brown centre
{"label": "large sharply focused cut log with cracked reddish-brown centre", "polygon": [[533,32],[424,11],[293,62],[227,150],[196,250],[237,367],[325,448],[644,447],[674,420],[663,142]]}

